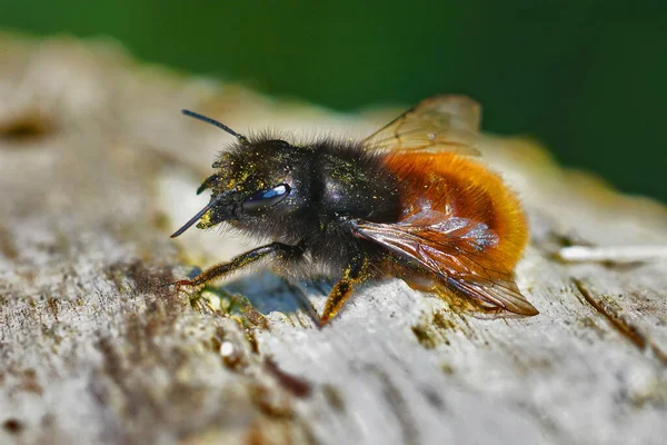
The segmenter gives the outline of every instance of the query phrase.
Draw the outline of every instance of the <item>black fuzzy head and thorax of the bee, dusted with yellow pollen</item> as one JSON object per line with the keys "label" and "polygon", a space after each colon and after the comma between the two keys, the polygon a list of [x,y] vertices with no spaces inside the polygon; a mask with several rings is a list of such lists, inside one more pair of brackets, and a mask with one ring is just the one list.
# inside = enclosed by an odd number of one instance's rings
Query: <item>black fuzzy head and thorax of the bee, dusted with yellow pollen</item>
{"label": "black fuzzy head and thorax of the bee, dusted with yellow pollen", "polygon": [[306,261],[299,263],[307,267],[298,275],[340,275],[354,256],[380,255],[354,235],[351,222],[396,222],[400,215],[396,177],[361,142],[323,138],[291,145],[262,136],[231,147],[217,167],[213,195],[226,185],[240,189],[239,199],[262,187],[289,186],[280,204],[257,215],[237,211],[229,222],[255,237],[301,245]]}

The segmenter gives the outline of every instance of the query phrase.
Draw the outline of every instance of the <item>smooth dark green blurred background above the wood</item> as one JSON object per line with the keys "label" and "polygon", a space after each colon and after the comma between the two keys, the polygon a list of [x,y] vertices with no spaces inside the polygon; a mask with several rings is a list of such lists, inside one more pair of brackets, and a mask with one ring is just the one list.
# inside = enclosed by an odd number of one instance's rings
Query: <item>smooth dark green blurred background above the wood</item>
{"label": "smooth dark green blurred background above the wood", "polygon": [[487,131],[667,201],[665,0],[0,0],[0,27],[111,36],[147,61],[345,111],[467,93]]}

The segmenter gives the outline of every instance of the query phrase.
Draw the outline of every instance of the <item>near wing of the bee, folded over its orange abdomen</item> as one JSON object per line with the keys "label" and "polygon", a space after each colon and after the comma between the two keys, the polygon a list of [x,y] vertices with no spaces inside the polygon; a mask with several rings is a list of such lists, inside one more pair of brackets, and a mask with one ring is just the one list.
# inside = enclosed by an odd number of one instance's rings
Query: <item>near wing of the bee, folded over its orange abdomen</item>
{"label": "near wing of the bee, folded over its orange abdomen", "polygon": [[428,210],[398,224],[358,221],[355,233],[417,261],[487,308],[538,314],[520,294],[511,270],[497,259],[498,253],[496,260],[489,259],[488,249],[497,246],[498,237],[486,224]]}

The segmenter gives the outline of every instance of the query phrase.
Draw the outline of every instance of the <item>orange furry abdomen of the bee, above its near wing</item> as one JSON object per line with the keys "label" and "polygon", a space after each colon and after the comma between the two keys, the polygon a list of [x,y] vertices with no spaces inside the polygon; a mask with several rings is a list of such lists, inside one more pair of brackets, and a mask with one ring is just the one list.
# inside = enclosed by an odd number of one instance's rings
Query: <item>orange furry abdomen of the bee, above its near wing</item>
{"label": "orange furry abdomen of the bee, above its near wing", "polygon": [[528,224],[517,197],[500,176],[468,157],[450,152],[392,154],[385,158],[400,187],[401,219],[424,206],[447,217],[486,224],[497,236],[496,254],[509,270],[528,243]]}

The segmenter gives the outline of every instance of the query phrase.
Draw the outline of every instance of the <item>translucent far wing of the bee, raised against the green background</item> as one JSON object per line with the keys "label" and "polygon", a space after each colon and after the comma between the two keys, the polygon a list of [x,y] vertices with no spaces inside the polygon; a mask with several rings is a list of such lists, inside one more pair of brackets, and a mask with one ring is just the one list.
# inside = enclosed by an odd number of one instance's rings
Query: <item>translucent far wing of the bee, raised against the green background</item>
{"label": "translucent far wing of the bee, raised against the green background", "polygon": [[364,144],[371,150],[452,151],[478,156],[475,148],[481,108],[466,96],[436,96],[410,108]]}

